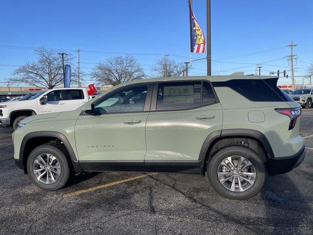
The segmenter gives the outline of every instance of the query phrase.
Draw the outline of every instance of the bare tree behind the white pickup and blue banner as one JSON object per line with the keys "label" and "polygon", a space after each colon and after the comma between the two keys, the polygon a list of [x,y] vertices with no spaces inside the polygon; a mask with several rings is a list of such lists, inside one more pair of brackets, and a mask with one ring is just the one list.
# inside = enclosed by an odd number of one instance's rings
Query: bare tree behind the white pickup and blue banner
{"label": "bare tree behind the white pickup and blue banner", "polygon": [[[52,89],[63,84],[62,61],[58,51],[39,47],[35,49],[37,61],[26,62],[13,72],[13,77],[7,79],[11,83],[24,83],[34,87]],[[64,57],[64,63],[70,64],[71,55]],[[71,83],[77,83],[77,71],[72,69]]]}

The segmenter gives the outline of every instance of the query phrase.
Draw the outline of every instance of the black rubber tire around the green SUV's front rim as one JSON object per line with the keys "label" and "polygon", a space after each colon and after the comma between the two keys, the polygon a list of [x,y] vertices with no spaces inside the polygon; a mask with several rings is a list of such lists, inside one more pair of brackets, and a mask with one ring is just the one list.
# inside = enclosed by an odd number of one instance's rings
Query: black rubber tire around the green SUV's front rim
{"label": "black rubber tire around the green SUV's front rim", "polygon": [[[61,166],[61,174],[56,182],[51,184],[45,184],[39,180],[37,180],[35,173],[33,171],[33,164],[35,159],[40,154],[51,154],[53,155],[60,163]],[[66,157],[65,152],[58,147],[56,144],[43,144],[35,148],[29,155],[27,159],[27,171],[31,181],[39,188],[45,190],[58,190],[63,188],[68,181],[69,174],[70,174],[70,167]]]}

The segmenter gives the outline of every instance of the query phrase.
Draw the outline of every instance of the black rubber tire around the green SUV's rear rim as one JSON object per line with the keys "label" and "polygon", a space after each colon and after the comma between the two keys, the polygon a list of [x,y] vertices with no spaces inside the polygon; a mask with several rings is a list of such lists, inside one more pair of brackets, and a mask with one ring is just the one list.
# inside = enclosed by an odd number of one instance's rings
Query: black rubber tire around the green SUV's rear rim
{"label": "black rubber tire around the green SUV's rear rim", "polygon": [[[255,181],[253,185],[245,191],[231,191],[230,189],[225,188],[219,180],[218,168],[225,158],[231,156],[244,157],[249,160],[255,168]],[[207,166],[207,177],[212,187],[222,196],[234,200],[244,200],[253,197],[263,188],[266,178],[266,168],[262,159],[250,148],[241,145],[225,146],[215,152],[212,156]]]}

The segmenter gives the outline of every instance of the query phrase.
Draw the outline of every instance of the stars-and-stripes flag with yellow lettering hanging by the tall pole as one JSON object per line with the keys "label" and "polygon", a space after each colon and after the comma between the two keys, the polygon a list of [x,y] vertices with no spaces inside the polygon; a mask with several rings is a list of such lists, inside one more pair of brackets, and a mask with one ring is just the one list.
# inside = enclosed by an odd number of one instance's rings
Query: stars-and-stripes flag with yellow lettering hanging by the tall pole
{"label": "stars-and-stripes flag with yellow lettering hanging by the tall pole", "polygon": [[190,51],[194,53],[205,52],[205,38],[204,33],[198,24],[195,14],[192,10],[192,0],[189,3],[189,17],[190,17]]}

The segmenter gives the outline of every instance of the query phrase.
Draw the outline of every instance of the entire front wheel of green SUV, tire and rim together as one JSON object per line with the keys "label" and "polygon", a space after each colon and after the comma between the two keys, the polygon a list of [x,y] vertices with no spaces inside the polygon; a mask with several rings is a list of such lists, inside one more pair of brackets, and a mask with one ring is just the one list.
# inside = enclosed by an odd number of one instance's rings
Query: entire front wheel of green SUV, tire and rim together
{"label": "entire front wheel of green SUV, tire and rim together", "polygon": [[53,144],[40,145],[30,153],[27,171],[32,182],[46,190],[63,188],[70,173],[65,154]]}

